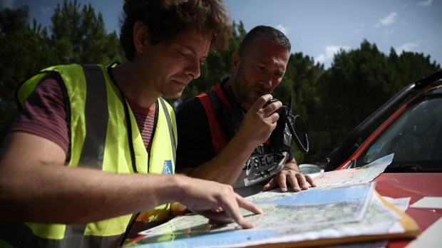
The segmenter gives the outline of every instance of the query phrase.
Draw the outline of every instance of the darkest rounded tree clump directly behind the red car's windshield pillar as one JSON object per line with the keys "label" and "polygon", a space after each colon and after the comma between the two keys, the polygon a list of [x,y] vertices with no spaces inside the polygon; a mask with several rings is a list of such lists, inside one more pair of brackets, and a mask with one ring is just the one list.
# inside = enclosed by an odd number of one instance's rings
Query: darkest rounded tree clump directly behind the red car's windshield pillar
{"label": "darkest rounded tree clump directly behind the red car's windshield pillar", "polygon": [[322,127],[314,125],[321,135],[312,143],[322,143],[319,157],[339,147],[351,130],[401,88],[440,69],[422,53],[404,52],[398,56],[391,48],[386,56],[369,41],[362,41],[359,49],[340,51],[317,82],[321,115],[314,121]]}

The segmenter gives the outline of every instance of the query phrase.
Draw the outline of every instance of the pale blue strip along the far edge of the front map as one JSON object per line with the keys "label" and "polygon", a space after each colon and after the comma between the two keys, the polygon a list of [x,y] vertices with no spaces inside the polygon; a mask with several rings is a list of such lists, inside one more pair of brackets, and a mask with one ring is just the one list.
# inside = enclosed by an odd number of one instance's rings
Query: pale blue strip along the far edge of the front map
{"label": "pale blue strip along the far edge of the front map", "polygon": [[333,202],[349,202],[366,197],[368,187],[338,187],[330,190],[305,190],[281,195],[276,199],[252,200],[255,204],[319,205]]}

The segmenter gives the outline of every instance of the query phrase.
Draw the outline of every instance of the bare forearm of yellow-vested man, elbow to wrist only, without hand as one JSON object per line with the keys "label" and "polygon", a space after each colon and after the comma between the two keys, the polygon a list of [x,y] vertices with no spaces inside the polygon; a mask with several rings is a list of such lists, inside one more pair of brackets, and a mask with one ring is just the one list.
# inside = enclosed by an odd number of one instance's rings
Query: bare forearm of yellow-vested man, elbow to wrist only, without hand
{"label": "bare forearm of yellow-vested man, elbow to wrist only, without hand", "polygon": [[169,191],[179,189],[173,177],[165,177],[118,175],[56,165],[45,170],[29,168],[20,180],[2,180],[0,212],[7,213],[3,216],[6,219],[38,222],[108,219],[174,202],[176,199]]}

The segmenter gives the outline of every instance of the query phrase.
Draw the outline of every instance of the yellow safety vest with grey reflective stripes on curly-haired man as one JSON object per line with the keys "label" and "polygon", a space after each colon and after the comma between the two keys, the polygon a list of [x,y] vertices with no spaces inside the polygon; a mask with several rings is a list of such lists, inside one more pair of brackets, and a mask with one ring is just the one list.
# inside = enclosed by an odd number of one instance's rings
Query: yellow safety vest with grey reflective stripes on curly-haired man
{"label": "yellow safety vest with grey reflective stripes on curly-haired man", "polygon": [[[148,153],[132,110],[108,75],[108,69],[114,66],[71,64],[46,68],[21,84],[17,100],[24,105],[39,82],[56,77],[66,99],[69,167],[86,166],[119,174],[173,174],[177,140],[173,108],[162,98],[157,100]],[[1,231],[6,232],[0,234],[0,244],[3,239],[14,247],[118,247],[125,233],[134,232],[130,227],[143,229],[164,220],[169,208],[166,204],[138,215],[88,224],[0,224]],[[135,223],[131,224],[131,219],[136,219]]]}

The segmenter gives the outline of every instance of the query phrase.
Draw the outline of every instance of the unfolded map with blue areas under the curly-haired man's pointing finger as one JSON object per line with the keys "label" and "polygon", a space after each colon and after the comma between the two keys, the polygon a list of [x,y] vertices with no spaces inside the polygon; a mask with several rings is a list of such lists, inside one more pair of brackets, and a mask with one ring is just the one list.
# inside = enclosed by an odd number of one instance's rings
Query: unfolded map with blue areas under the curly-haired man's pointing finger
{"label": "unfolded map with blue areas under the curly-haired man's pointing finger", "polygon": [[359,180],[359,175],[366,174],[364,170],[372,172],[373,168],[354,172],[356,184],[332,184],[302,192],[277,189],[246,197],[264,210],[261,215],[242,210],[242,215],[255,223],[253,229],[241,229],[236,223],[212,225],[201,215],[185,215],[140,232],[145,237],[125,247],[245,247],[404,232],[399,216],[374,194],[375,182]]}

